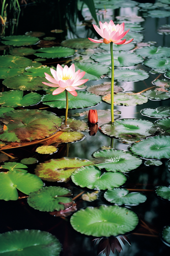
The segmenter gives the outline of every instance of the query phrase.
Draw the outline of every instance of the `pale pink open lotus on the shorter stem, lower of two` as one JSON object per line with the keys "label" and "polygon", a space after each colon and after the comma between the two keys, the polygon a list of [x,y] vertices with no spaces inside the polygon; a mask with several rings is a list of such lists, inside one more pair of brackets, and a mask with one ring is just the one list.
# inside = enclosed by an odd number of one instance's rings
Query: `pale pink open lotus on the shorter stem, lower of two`
{"label": "pale pink open lotus on the shorter stem, lower of two", "polygon": [[50,71],[53,78],[47,73],[44,74],[46,80],[51,83],[42,83],[51,87],[57,87],[57,89],[52,92],[53,95],[57,95],[64,90],[67,90],[73,96],[77,96],[77,92],[75,90],[81,89],[77,86],[80,86],[88,81],[88,79],[80,80],[85,75],[85,72],[80,72],[80,70],[75,72],[74,64],[72,64],[69,68],[67,67],[67,65],[62,68],[59,64],[57,64],[56,71],[52,68],[50,68]]}

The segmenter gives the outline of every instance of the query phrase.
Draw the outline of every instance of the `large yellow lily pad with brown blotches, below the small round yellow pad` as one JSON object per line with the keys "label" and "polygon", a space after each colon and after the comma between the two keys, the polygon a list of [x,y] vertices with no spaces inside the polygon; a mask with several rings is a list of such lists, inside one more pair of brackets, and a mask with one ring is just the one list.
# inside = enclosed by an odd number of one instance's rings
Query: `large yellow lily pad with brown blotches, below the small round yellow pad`
{"label": "large yellow lily pad with brown blotches, below the small round yellow pad", "polygon": [[91,164],[92,162],[79,158],[51,159],[37,165],[35,175],[46,181],[67,182],[78,167]]}

